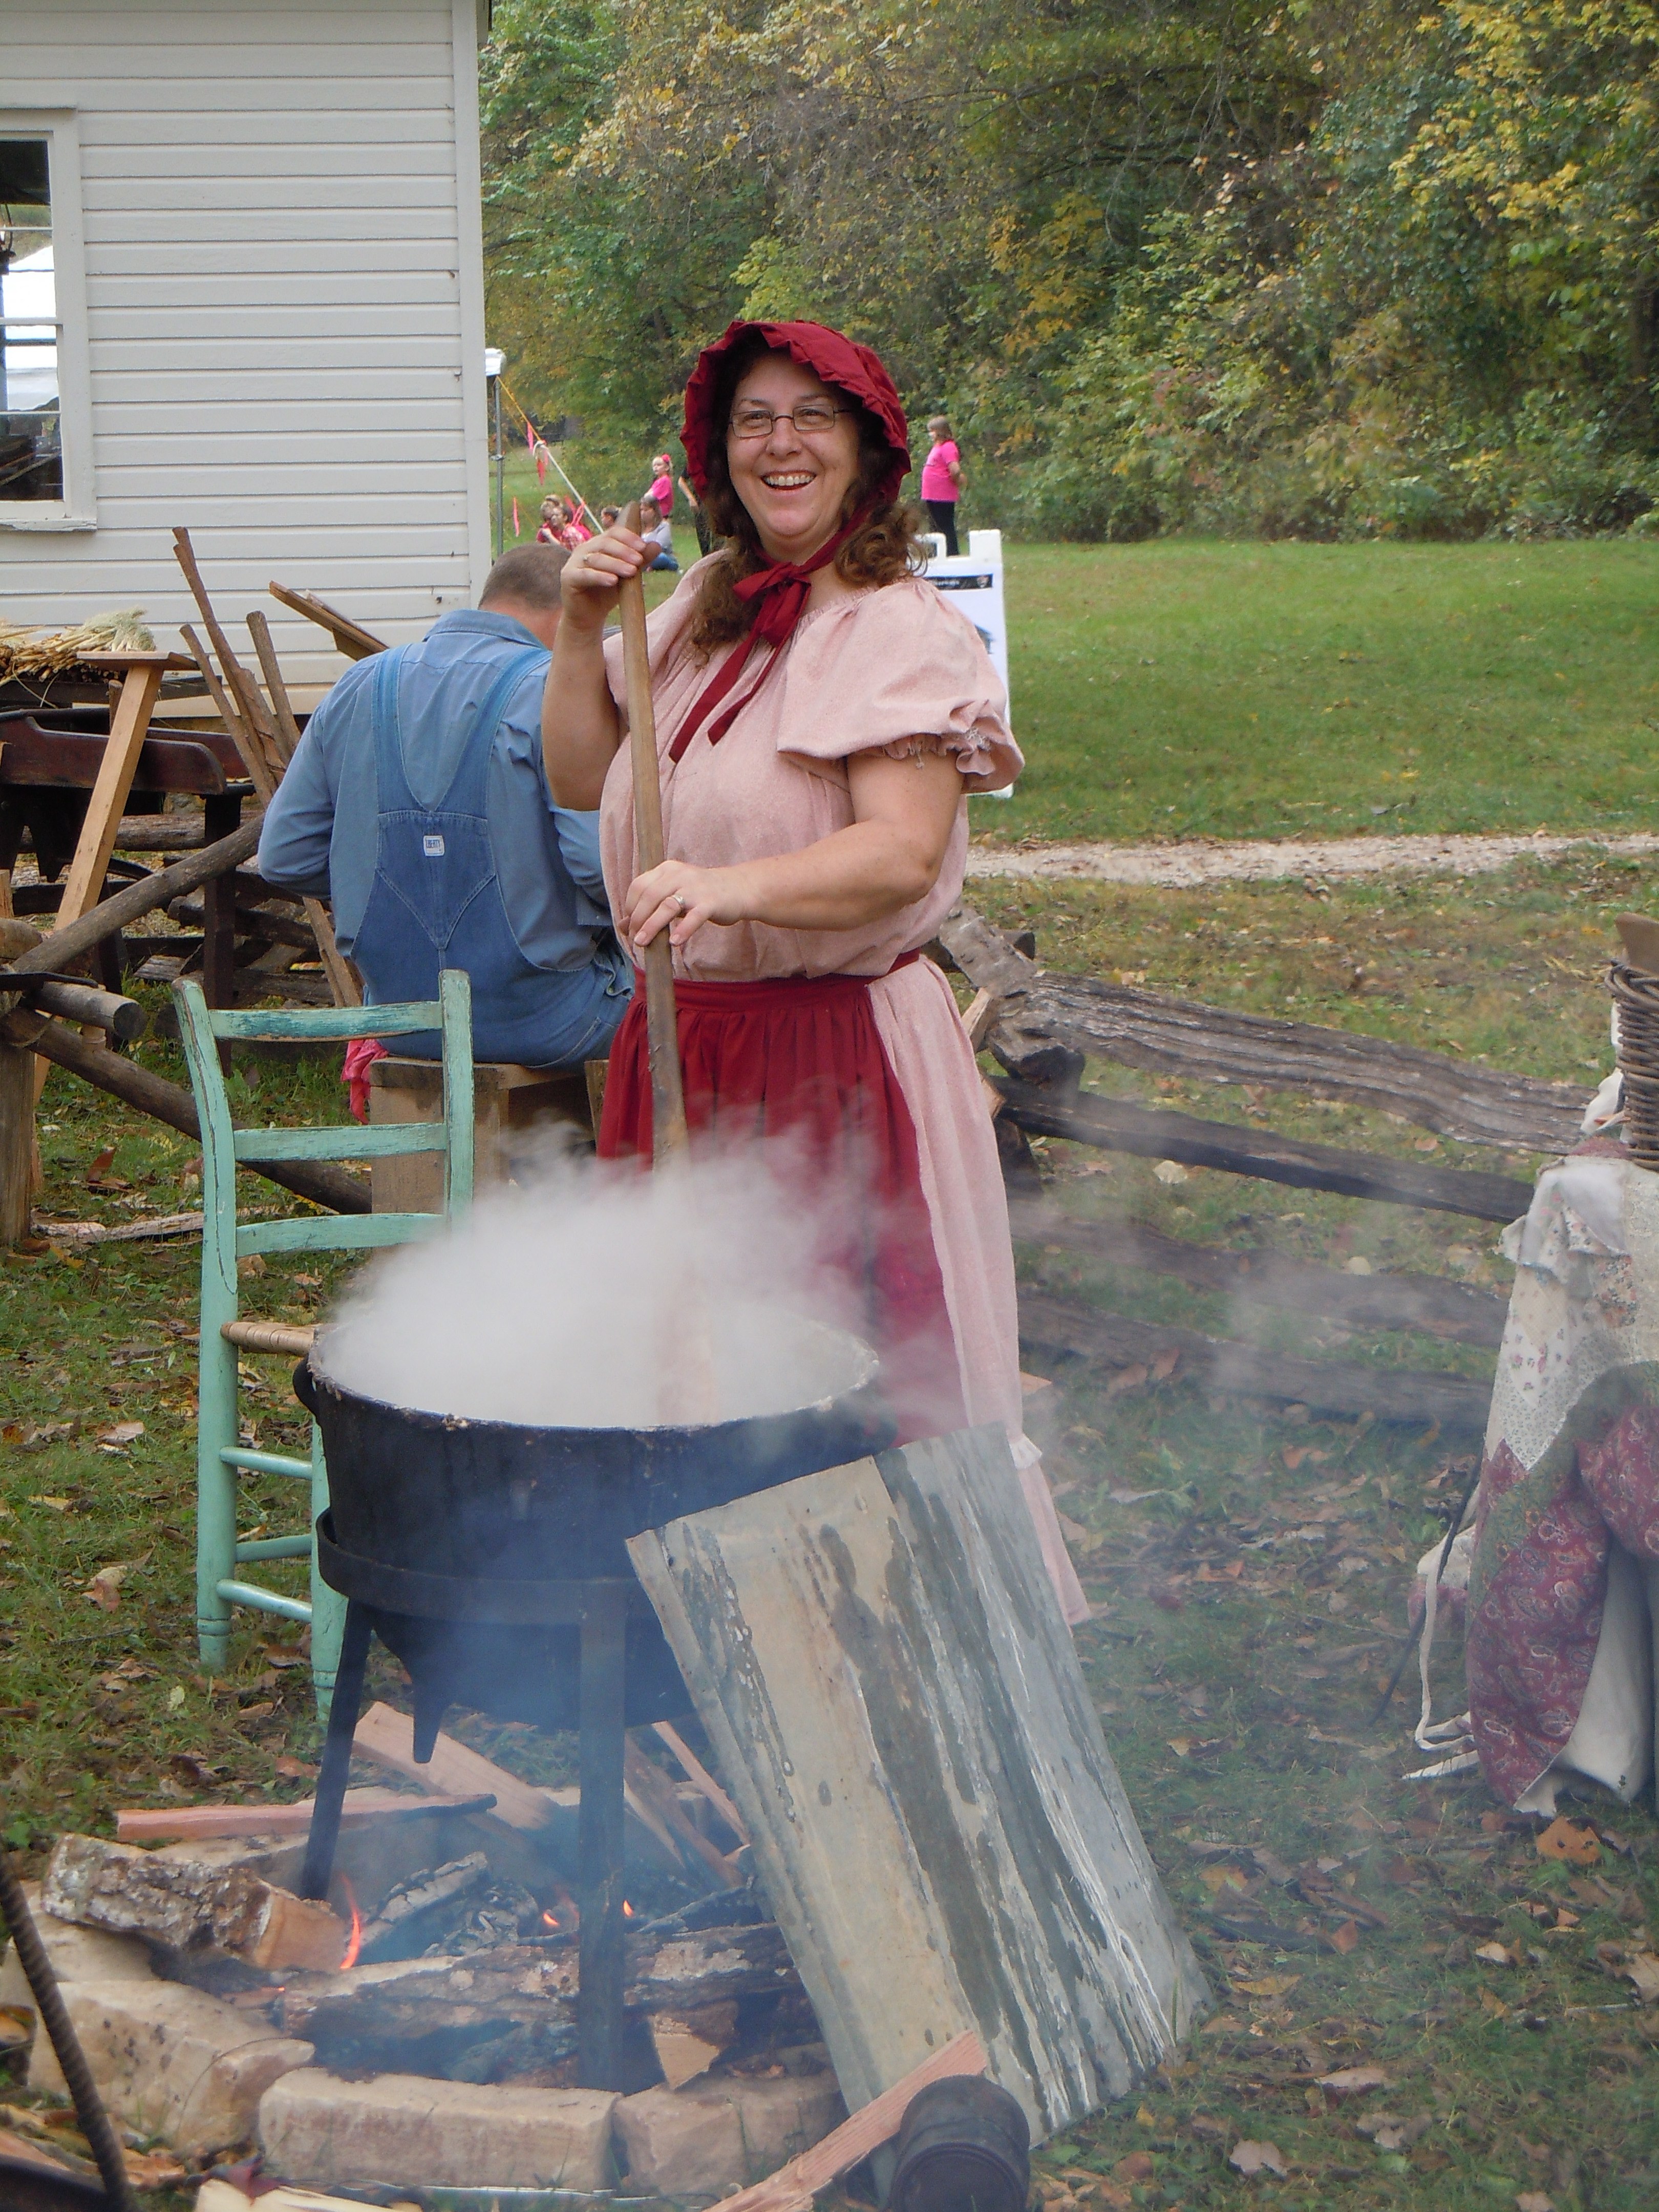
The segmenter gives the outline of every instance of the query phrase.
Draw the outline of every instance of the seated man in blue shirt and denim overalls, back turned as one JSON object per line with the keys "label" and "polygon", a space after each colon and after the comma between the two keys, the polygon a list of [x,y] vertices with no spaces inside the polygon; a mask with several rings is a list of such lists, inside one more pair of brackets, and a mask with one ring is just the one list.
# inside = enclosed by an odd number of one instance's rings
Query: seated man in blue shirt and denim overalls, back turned
{"label": "seated man in blue shirt and denim overalls, back turned", "polygon": [[[265,883],[334,900],[369,1004],[436,998],[440,969],[467,969],[476,1057],[533,1068],[604,1057],[633,991],[599,816],[555,807],[542,768],[566,560],[518,546],[476,611],[347,668],[259,838]],[[396,1051],[434,1060],[438,1037]]]}

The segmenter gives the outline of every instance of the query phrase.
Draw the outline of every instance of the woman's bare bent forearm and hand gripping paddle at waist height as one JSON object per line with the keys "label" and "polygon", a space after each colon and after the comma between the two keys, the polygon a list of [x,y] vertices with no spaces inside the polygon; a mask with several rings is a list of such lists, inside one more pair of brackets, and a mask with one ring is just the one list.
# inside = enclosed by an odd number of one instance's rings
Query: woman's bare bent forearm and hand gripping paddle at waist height
{"label": "woman's bare bent forearm and hand gripping paddle at waist height", "polygon": [[628,938],[648,945],[666,927],[684,945],[703,922],[860,929],[916,905],[938,883],[962,803],[956,757],[856,752],[847,785],[854,823],[801,852],[737,867],[664,860],[635,876],[622,916]]}

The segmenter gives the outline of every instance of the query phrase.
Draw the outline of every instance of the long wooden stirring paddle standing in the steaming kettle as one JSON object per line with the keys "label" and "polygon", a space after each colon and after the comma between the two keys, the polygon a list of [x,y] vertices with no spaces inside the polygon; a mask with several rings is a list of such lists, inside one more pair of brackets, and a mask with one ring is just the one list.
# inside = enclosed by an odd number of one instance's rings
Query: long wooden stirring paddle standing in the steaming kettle
{"label": "long wooden stirring paddle standing in the steaming kettle", "polygon": [[[630,500],[622,526],[639,529],[639,502]],[[646,586],[630,575],[617,593],[622,615],[622,668],[628,679],[628,754],[633,759],[633,847],[635,874],[661,867],[661,770],[657,765],[657,712],[650,699],[650,650],[646,644]],[[679,1071],[679,1015],[675,1011],[675,949],[659,929],[646,945],[646,1060],[650,1066],[650,1159],[657,1170],[690,1164],[686,1130],[686,1086]],[[719,1420],[714,1380],[714,1336],[701,1283],[675,1285],[672,1307],[657,1316],[659,1409],[672,1427]]]}

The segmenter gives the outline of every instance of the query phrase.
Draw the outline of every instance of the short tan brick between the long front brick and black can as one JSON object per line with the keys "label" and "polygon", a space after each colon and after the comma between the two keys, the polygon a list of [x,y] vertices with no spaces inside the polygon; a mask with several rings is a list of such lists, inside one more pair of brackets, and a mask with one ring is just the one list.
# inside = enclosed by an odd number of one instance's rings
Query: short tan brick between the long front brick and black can
{"label": "short tan brick between the long front brick and black can", "polygon": [[763,2181],[847,2117],[836,2077],[754,2081],[714,2075],[648,2088],[617,2106],[617,2150],[630,2190],[701,2197]]}

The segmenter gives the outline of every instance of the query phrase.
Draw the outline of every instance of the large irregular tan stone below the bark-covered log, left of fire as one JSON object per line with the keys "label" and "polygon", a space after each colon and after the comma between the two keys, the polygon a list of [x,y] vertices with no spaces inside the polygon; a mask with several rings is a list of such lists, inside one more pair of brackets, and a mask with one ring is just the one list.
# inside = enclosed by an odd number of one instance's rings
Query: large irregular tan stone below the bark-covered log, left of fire
{"label": "large irregular tan stone below the bark-covered log, left of fire", "polygon": [[[310,2044],[272,2035],[259,2013],[179,1982],[64,1982],[62,1995],[104,2104],[175,2150],[246,2143],[272,2081],[312,2062]],[[29,2088],[69,2095],[44,2035],[29,2059]]]}

